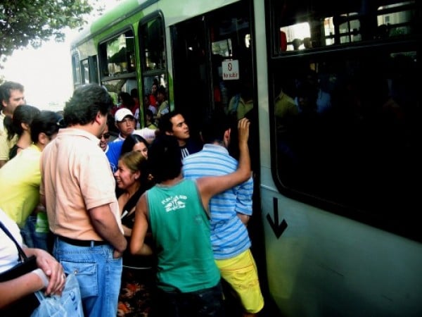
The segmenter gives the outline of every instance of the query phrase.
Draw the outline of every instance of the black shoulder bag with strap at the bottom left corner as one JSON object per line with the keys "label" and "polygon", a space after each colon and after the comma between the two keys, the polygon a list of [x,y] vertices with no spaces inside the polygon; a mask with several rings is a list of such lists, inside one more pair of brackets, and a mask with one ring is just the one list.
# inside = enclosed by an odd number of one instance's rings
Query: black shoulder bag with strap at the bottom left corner
{"label": "black shoulder bag with strap at the bottom left corner", "polygon": [[[22,247],[20,247],[11,232],[9,232],[9,230],[3,223],[1,223],[1,221],[0,228],[9,238],[11,238],[13,243],[15,243],[15,246],[18,249],[20,261],[18,264],[13,266],[13,268],[10,268],[0,274],[0,282],[13,280],[14,278],[18,278],[21,275],[25,275],[26,273],[34,271],[37,268],[37,258],[35,256],[27,257]],[[25,297],[22,297],[21,299],[18,299],[18,301],[13,302],[13,304],[6,306],[4,309],[0,309],[0,316],[30,316],[30,313],[32,313],[32,311],[34,311],[38,305],[39,301],[37,300],[37,297],[35,297],[34,294],[29,294]]]}

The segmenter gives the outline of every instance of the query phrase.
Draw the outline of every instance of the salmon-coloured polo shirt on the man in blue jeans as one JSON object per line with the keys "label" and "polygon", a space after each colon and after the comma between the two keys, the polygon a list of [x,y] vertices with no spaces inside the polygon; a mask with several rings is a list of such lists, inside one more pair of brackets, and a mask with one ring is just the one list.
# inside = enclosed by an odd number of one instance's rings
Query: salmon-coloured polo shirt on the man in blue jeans
{"label": "salmon-coloured polo shirt on the man in blue jeans", "polygon": [[123,232],[115,178],[100,140],[89,132],[65,128],[42,151],[40,194],[46,197],[50,230],[77,240],[102,240],[89,209],[110,205]]}

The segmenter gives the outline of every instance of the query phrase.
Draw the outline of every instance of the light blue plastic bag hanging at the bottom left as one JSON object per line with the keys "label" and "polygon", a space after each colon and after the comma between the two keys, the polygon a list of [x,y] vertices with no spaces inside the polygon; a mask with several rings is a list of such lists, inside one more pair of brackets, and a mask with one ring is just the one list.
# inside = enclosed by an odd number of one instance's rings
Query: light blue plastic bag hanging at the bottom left
{"label": "light blue plastic bag hanging at the bottom left", "polygon": [[84,317],[81,292],[75,274],[69,274],[66,278],[61,296],[46,296],[41,291],[35,292],[35,296],[39,300],[39,306],[31,317]]}

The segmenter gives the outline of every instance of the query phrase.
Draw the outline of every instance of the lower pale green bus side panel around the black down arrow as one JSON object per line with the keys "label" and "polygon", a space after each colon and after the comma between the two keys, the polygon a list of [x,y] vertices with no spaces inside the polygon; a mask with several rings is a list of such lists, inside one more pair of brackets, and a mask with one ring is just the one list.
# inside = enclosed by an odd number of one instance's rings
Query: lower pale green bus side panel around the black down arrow
{"label": "lower pale green bus side panel around the black down arrow", "polygon": [[[263,181],[264,182],[264,181]],[[286,316],[420,316],[418,242],[261,186],[269,290]],[[288,224],[277,238],[267,216]]]}

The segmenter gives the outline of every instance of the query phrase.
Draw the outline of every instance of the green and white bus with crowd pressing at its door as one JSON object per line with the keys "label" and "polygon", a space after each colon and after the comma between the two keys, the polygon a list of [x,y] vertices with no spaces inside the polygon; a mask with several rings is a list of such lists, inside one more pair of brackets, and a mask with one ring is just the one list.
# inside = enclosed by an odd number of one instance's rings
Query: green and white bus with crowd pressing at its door
{"label": "green and white bus with crowd pressing at its door", "polygon": [[421,2],[125,0],[74,85],[156,80],[192,132],[250,94],[262,316],[422,316]]}

